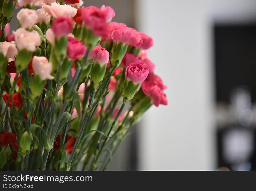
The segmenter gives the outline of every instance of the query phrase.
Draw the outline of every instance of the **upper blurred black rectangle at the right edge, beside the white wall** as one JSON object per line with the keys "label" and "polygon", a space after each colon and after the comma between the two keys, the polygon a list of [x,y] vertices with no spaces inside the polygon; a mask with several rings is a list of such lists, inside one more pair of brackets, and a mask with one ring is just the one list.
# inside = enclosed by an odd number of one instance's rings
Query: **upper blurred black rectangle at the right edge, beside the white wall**
{"label": "upper blurred black rectangle at the right edge, beside the white wall", "polygon": [[256,23],[216,25],[216,101],[230,101],[236,86],[248,86],[256,100]]}

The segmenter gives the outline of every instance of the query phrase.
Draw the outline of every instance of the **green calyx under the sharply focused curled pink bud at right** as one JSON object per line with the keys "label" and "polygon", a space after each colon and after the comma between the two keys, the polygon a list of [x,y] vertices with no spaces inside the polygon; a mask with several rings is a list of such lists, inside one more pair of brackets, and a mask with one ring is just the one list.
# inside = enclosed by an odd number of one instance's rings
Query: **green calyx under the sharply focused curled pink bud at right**
{"label": "green calyx under the sharply focused curled pink bud at right", "polygon": [[135,84],[133,83],[133,81],[127,81],[125,79],[124,89],[122,94],[124,103],[127,103],[129,100],[131,100],[134,97],[139,86],[140,86],[140,83]]}

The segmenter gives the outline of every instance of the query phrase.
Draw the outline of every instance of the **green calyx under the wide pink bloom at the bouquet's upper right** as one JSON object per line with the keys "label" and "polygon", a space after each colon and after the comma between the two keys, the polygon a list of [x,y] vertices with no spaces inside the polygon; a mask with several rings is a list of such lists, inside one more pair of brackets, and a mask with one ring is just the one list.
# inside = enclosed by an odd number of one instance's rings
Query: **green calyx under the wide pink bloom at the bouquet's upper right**
{"label": "green calyx under the wide pink bloom at the bouquet's upper right", "polygon": [[109,54],[111,66],[119,66],[127,51],[128,44],[122,41],[116,44],[114,42],[112,50]]}

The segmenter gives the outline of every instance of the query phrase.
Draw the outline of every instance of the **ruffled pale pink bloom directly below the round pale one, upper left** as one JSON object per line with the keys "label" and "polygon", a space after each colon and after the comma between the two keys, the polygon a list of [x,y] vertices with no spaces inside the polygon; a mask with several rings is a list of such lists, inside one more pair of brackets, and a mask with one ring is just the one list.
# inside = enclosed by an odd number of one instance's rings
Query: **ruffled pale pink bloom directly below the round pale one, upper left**
{"label": "ruffled pale pink bloom directly below the round pale one, upper left", "polygon": [[41,44],[41,38],[37,31],[26,31],[24,28],[18,28],[15,32],[16,46],[19,50],[27,49],[34,52],[36,47]]}

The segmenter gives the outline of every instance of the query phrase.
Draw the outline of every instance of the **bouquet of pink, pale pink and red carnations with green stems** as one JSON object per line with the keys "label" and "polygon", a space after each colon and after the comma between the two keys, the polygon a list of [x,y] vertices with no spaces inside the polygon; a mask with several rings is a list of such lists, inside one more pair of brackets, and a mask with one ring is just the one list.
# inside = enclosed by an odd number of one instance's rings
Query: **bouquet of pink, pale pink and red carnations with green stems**
{"label": "bouquet of pink, pale pink and red carnations with green stems", "polygon": [[152,38],[82,4],[0,2],[1,170],[105,170],[130,126],[167,105]]}

